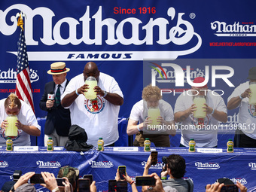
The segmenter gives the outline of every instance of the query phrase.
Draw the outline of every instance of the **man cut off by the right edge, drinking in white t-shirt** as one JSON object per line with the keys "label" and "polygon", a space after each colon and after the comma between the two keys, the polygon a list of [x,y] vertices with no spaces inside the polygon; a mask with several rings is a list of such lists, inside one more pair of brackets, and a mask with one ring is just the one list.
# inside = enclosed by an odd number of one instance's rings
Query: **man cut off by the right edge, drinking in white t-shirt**
{"label": "man cut off by the right edge, drinking in white t-shirt", "polygon": [[234,141],[237,148],[256,148],[256,67],[249,69],[248,80],[236,87],[227,99],[227,109],[239,108]]}

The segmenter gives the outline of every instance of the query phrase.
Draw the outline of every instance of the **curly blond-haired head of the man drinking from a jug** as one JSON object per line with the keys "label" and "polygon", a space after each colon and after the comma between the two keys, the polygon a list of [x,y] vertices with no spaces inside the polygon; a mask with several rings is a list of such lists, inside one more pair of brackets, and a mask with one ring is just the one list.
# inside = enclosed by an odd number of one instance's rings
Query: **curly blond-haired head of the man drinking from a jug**
{"label": "curly blond-haired head of the man drinking from a jug", "polygon": [[142,91],[142,99],[147,102],[148,108],[157,107],[159,100],[162,99],[160,88],[151,84],[148,85]]}

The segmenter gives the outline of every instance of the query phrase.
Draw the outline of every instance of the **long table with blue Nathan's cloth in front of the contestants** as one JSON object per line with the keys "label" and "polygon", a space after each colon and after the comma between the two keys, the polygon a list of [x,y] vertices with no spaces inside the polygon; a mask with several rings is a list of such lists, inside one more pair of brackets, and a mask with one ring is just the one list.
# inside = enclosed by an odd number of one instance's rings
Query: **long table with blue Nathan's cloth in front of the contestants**
{"label": "long table with blue Nathan's cloth in front of the contestants", "polygon": [[[133,151],[138,150],[138,151]],[[256,150],[253,148],[235,148],[234,153],[189,153],[187,148],[151,148],[158,151],[158,163],[151,166],[149,173],[160,174],[162,157],[169,154],[180,154],[186,160],[187,172],[184,178],[194,181],[194,191],[204,191],[206,184],[212,184],[217,178],[227,177],[232,181],[240,181],[248,187],[248,191],[256,190]],[[93,174],[97,191],[108,190],[108,180],[114,179],[118,166],[126,166],[131,178],[142,175],[150,152],[143,148],[105,148],[105,151],[65,151],[62,148],[46,151],[41,147],[38,151],[5,151],[0,148],[0,181],[10,181],[15,170],[24,173],[34,171],[52,172],[57,175],[62,166],[74,166],[80,170],[80,176]],[[130,185],[130,184],[129,184]],[[128,185],[128,186],[129,186]],[[36,184],[37,190],[47,189]],[[130,186],[129,186],[130,190]],[[131,190],[130,190],[131,191]]]}

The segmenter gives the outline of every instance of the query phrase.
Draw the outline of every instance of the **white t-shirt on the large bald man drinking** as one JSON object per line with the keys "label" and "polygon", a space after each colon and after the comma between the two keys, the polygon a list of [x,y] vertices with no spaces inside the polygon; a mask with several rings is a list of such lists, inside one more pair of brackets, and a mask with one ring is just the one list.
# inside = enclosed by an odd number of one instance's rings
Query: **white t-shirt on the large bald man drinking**
{"label": "white t-shirt on the large bald man drinking", "polygon": [[[84,75],[78,75],[69,81],[65,92],[61,99],[69,93],[77,90],[84,85]],[[100,73],[98,86],[109,93],[117,93],[123,97],[123,93],[114,80],[109,75]],[[87,144],[97,146],[99,137],[102,137],[105,145],[111,145],[118,139],[118,113],[119,105],[113,105],[102,96],[97,96],[95,101],[90,102],[85,99],[83,94],[80,94],[75,102],[69,107],[72,125],[81,126],[87,133]]]}

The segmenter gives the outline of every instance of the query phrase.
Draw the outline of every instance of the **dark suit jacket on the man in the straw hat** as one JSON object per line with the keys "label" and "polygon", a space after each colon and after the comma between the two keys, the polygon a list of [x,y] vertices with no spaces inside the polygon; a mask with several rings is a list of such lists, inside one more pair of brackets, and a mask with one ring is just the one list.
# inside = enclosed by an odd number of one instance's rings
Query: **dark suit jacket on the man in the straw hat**
{"label": "dark suit jacket on the man in the straw hat", "polygon": [[[69,81],[67,81],[66,86],[67,84],[69,84]],[[59,136],[69,136],[69,128],[71,126],[69,109],[63,108],[62,105],[57,107],[56,102],[54,102],[52,108],[46,107],[47,96],[51,92],[54,93],[55,85],[54,81],[45,84],[44,94],[39,103],[40,108],[48,112],[44,125],[44,134],[50,135],[55,129]]]}

